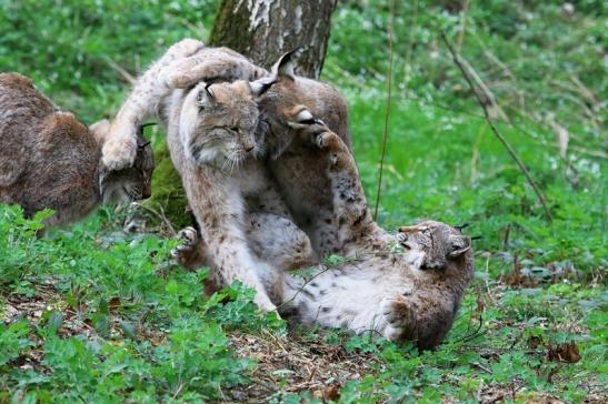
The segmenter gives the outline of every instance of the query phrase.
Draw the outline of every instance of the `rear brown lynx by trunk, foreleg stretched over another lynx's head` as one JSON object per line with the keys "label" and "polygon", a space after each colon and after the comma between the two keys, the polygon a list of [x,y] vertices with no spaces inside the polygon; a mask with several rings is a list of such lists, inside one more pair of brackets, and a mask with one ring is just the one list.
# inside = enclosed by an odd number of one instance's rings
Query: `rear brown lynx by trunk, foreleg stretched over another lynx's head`
{"label": "rear brown lynx by trunk, foreleg stretched over another lynx's head", "polygon": [[[326,256],[340,252],[326,163],[319,165],[313,147],[300,140],[301,127],[293,123],[301,123],[306,121],[303,117],[315,114],[350,145],[347,107],[330,85],[295,74],[296,53],[282,55],[268,73],[226,48],[206,48],[202,42],[191,39],[176,43],[138,80],[117,114],[110,141],[103,148],[104,163],[113,169],[129,166],[137,123],[149,114],[159,113],[159,105],[172,88],[236,79],[257,79],[260,85],[272,83],[266,97],[259,100],[261,119],[269,127],[265,141],[269,170],[290,214],[309,234],[317,254]],[[309,168],[306,174],[300,170],[303,166]]]}

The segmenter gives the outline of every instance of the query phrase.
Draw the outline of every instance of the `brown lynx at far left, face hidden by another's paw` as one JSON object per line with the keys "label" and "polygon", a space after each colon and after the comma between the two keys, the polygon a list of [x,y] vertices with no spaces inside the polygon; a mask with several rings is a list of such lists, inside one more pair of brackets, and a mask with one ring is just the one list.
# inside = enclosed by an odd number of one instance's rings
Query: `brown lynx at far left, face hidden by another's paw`
{"label": "brown lynx at far left, face hidden by another's paw", "polygon": [[60,111],[18,73],[0,74],[0,202],[20,204],[29,216],[56,211],[48,225],[73,222],[100,202],[148,198],[151,147],[136,137],[132,168],[110,172],[100,164],[108,122],[87,129]]}

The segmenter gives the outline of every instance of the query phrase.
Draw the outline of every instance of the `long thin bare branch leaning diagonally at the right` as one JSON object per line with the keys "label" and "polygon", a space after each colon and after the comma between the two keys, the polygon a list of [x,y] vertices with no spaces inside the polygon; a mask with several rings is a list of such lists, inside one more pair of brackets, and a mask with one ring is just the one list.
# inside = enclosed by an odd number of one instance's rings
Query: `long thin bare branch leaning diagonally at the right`
{"label": "long thin bare branch leaning diagonally at the right", "polygon": [[[456,65],[460,69],[460,71],[462,72],[462,75],[465,77],[465,80],[467,81],[467,83],[469,84],[470,89],[472,90],[476,99],[477,99],[477,102],[479,103],[479,105],[484,109],[484,115],[486,117],[486,121],[488,122],[488,125],[490,127],[492,133],[496,135],[496,138],[500,141],[500,143],[502,143],[502,145],[505,147],[505,149],[507,149],[507,152],[510,154],[510,156],[514,159],[514,161],[516,162],[517,166],[519,168],[519,170],[524,173],[524,175],[526,176],[526,180],[528,181],[528,183],[530,184],[530,186],[532,188],[532,190],[535,191],[540,204],[542,205],[542,209],[545,210],[545,214],[547,216],[547,220],[549,222],[552,221],[552,216],[551,216],[551,211],[549,210],[549,205],[547,204],[547,200],[545,198],[545,195],[542,194],[542,191],[540,190],[540,188],[538,188],[538,185],[536,184],[535,180],[532,179],[530,172],[528,171],[528,169],[526,168],[526,165],[524,164],[524,162],[521,161],[521,159],[519,159],[519,156],[517,155],[517,153],[515,152],[515,149],[510,145],[509,142],[507,142],[507,139],[505,139],[505,137],[502,137],[502,134],[498,131],[498,129],[496,128],[495,123],[494,123],[494,120],[492,120],[492,117],[490,114],[490,111],[488,109],[488,104],[487,104],[487,101],[488,100],[494,100],[494,97],[489,97],[489,98],[486,98],[486,100],[481,97],[481,94],[479,93],[479,91],[477,91],[477,88],[474,83],[474,80],[471,79],[471,77],[469,75],[469,71],[470,69],[467,69],[465,68],[465,65],[468,65],[468,63],[458,54],[456,53],[456,51],[453,50],[453,47],[451,46],[451,43],[448,41],[448,38],[446,37],[446,33],[445,32],[441,32],[441,39],[443,40],[443,43],[446,43],[446,47],[448,47],[448,50],[453,59],[453,62],[456,63]],[[479,77],[477,77],[477,80],[478,81],[478,84],[479,83],[482,83],[481,79]],[[481,87],[481,85],[480,85]],[[481,87],[481,89],[484,90],[484,92],[487,92],[486,95],[491,95],[491,92],[489,91],[489,89],[484,85]],[[507,121],[508,122],[508,121]]]}

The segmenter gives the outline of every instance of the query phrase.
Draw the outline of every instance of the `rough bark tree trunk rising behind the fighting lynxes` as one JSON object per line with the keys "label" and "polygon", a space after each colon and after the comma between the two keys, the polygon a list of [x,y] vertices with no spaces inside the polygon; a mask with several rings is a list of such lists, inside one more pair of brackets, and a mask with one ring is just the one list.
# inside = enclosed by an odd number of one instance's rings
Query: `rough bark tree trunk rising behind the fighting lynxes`
{"label": "rough bark tree trunk rising behind the fighting lynxes", "polygon": [[318,79],[337,0],[222,0],[209,44],[228,47],[269,69],[298,47],[298,74]]}

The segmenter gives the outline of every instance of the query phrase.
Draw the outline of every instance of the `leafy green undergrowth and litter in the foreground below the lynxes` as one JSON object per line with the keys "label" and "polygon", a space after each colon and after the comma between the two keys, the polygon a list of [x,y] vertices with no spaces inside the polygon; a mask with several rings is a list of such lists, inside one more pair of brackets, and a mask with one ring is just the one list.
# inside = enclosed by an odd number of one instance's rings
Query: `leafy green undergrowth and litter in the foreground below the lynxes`
{"label": "leafy green undergrowth and litter in the foreground below the lynxes", "polygon": [[608,397],[597,282],[524,287],[530,274],[494,280],[478,254],[447,342],[419,353],[288,326],[240,285],[205,296],[206,271],[173,265],[173,241],[116,231],[107,210],[39,239],[48,214],[0,208],[0,402]]}

